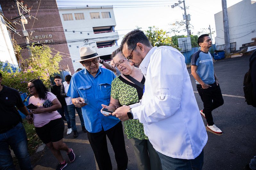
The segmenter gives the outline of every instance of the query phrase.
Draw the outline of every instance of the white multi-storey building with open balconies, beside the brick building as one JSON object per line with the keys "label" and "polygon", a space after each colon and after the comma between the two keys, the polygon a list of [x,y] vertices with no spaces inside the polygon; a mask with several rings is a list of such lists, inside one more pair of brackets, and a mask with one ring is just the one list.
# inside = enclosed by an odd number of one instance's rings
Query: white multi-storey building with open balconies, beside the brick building
{"label": "white multi-storey building with open balconies, beside the brick building", "polygon": [[58,8],[74,70],[82,68],[79,48],[92,47],[101,59],[110,60],[111,53],[119,46],[113,6]]}

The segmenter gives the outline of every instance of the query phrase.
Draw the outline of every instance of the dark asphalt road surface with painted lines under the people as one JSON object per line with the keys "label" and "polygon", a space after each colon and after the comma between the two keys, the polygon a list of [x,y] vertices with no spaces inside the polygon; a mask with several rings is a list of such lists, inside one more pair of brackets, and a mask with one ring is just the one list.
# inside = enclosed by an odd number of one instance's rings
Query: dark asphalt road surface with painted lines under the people
{"label": "dark asphalt road surface with painted lines under the people", "polygon": [[[223,135],[208,134],[208,142],[204,147],[205,170],[242,169],[253,156],[256,155],[256,108],[248,106],[244,101],[243,79],[249,69],[249,56],[243,56],[227,60],[219,60],[214,63],[214,69],[219,78],[220,88],[224,95],[224,105],[213,111],[215,124],[223,131]],[[188,72],[191,73],[190,68]],[[198,95],[195,80],[192,76],[191,82],[199,108],[203,108],[202,101]],[[77,123],[79,122],[78,116]],[[203,118],[203,117],[202,117]],[[207,125],[203,118],[205,125]],[[68,163],[66,170],[74,169],[97,169],[93,151],[88,143],[87,134],[83,133],[81,126],[77,125],[79,137],[73,139],[73,134],[64,134],[65,143],[72,148],[76,154],[76,160]],[[137,169],[133,149],[125,136],[126,150],[128,154],[128,169]],[[112,158],[113,169],[117,169],[114,152],[108,141],[109,153]],[[35,169],[51,169],[57,165],[48,148],[39,152],[41,157],[34,163]],[[64,159],[68,161],[65,152]]]}

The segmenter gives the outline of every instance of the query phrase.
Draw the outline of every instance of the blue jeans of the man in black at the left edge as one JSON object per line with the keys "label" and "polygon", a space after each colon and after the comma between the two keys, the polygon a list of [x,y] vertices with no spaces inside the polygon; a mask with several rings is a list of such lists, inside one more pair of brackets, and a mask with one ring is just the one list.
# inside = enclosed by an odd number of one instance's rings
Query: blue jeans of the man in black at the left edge
{"label": "blue jeans of the man in black at the left edge", "polygon": [[1,133],[0,169],[15,170],[12,162],[11,151],[9,149],[9,146],[11,146],[11,149],[19,161],[21,170],[32,170],[27,145],[28,142],[26,131],[21,122],[19,122],[14,128],[8,130],[7,132]]}

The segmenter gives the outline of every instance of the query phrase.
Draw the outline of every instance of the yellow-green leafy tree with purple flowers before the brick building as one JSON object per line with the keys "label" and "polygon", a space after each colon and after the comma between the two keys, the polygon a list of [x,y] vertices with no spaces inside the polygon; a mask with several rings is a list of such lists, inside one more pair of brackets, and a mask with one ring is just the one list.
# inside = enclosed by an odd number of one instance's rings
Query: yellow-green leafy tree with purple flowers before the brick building
{"label": "yellow-green leafy tree with purple flowers before the brick building", "polygon": [[33,78],[39,78],[46,87],[50,87],[50,75],[59,73],[59,62],[62,60],[62,56],[59,53],[53,56],[51,54],[51,48],[45,45],[33,45],[30,48],[32,57],[22,60],[22,69],[17,68],[13,70],[10,64],[4,66],[3,63],[0,62],[3,85],[12,87],[20,92],[28,92],[26,89],[28,81]]}

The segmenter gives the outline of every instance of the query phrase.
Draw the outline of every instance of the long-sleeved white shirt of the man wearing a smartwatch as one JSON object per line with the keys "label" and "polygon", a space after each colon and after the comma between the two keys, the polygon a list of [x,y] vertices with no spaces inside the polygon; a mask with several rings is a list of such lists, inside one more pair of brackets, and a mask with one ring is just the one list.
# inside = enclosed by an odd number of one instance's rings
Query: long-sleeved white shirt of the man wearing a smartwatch
{"label": "long-sleeved white shirt of the man wearing a smartwatch", "polygon": [[130,105],[154,149],[166,156],[194,159],[208,136],[197,106],[184,56],[175,48],[152,48],[139,68],[146,77],[140,104]]}

